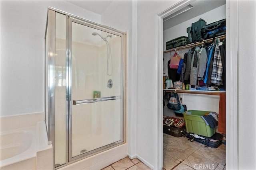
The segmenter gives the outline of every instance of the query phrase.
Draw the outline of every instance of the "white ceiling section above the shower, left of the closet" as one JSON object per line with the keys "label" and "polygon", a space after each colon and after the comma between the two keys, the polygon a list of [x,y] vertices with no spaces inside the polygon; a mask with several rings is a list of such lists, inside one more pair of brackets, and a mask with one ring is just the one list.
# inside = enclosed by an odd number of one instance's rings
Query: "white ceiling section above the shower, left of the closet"
{"label": "white ceiling section above the shower, left of the closet", "polygon": [[101,15],[114,0],[66,0],[70,4],[79,6]]}

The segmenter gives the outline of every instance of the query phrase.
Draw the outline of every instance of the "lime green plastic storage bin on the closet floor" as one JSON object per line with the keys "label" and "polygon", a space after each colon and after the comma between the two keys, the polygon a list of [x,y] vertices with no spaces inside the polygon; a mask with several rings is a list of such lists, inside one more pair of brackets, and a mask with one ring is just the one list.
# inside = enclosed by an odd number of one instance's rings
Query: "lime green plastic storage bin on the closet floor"
{"label": "lime green plastic storage bin on the closet floor", "polygon": [[[190,112],[190,114],[186,114]],[[210,125],[206,125],[202,115],[210,113],[211,111],[201,111],[201,110],[188,110],[182,113],[184,115],[186,131],[195,133],[197,135],[202,135],[206,137],[212,137],[215,133],[215,129],[211,128]]]}

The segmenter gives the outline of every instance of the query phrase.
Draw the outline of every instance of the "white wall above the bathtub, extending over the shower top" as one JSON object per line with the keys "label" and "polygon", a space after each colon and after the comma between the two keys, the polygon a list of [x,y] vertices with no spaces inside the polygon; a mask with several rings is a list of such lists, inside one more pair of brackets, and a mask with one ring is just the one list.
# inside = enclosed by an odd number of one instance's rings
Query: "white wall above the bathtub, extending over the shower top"
{"label": "white wall above the bathtub, extending over the shower top", "polygon": [[100,23],[65,1],[0,1],[1,117],[44,111],[44,34],[48,6]]}

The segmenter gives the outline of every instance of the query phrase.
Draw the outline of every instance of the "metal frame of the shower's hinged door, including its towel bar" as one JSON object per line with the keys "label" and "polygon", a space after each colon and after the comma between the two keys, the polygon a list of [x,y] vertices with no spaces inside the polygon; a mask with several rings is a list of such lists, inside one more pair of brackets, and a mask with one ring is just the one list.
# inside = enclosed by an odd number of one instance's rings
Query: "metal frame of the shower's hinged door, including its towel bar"
{"label": "metal frame of the shower's hinged door, including its towel bar", "polygon": [[[96,99],[91,99],[91,100],[81,100],[81,101],[72,101],[72,23],[78,23],[87,27],[92,27],[94,29],[98,29],[100,31],[105,31],[114,35],[118,35],[121,37],[121,96],[110,96],[107,98],[96,98]],[[68,96],[66,96],[66,102],[68,103],[68,110],[66,110],[66,115],[68,115],[68,162],[77,160],[79,158],[85,158],[89,157],[92,154],[96,154],[101,152],[102,150],[106,150],[110,147],[116,146],[118,144],[124,143],[124,33],[117,32],[116,30],[112,30],[109,28],[106,28],[102,25],[98,25],[95,23],[92,23],[90,21],[84,21],[78,18],[74,18],[69,16],[68,17],[68,38],[67,38],[67,44],[68,47],[68,55],[66,56],[66,68],[68,70],[68,86],[66,86],[66,92],[68,92]],[[108,100],[116,100],[120,98],[121,99],[121,140],[111,143],[109,145],[100,147],[98,149],[94,149],[92,151],[80,154],[78,156],[72,157],[72,105],[77,105],[77,104],[86,104],[86,103],[91,103],[91,102],[102,102],[102,101],[108,101]]]}

